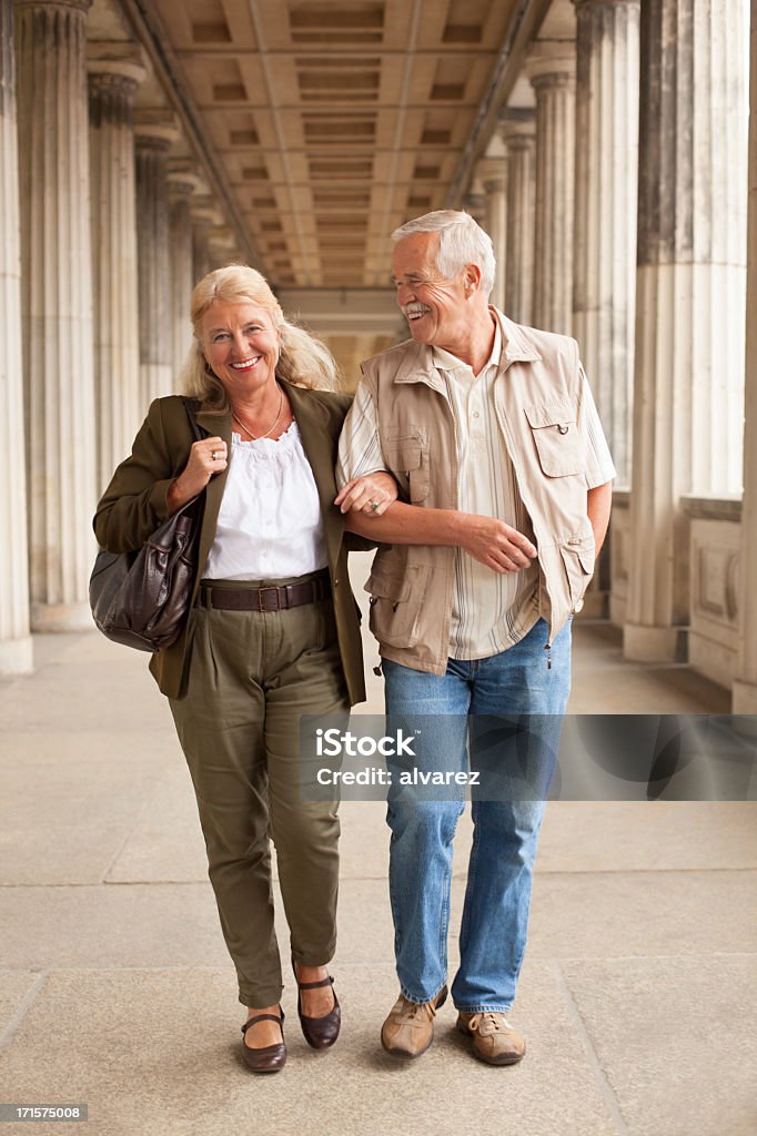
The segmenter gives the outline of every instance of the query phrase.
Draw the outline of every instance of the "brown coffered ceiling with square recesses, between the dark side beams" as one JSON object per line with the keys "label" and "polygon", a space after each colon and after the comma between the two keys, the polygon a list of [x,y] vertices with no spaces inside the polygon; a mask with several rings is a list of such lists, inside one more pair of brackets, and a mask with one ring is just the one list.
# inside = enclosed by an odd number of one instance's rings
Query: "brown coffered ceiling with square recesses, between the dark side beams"
{"label": "brown coffered ceiling with square recesses, between the dark side beams", "polygon": [[447,203],[515,0],[152,0],[167,66],[278,287],[386,284]]}

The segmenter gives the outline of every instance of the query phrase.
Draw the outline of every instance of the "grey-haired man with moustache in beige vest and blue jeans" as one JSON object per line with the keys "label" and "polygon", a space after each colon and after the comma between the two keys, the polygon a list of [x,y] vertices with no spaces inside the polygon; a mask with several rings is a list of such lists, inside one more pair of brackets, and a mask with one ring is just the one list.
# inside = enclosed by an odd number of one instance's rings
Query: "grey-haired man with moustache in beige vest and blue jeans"
{"label": "grey-haired man with moustache in beige vest and blue jeans", "polygon": [[[411,339],[364,364],[340,441],[336,503],[365,512],[360,532],[382,542],[366,587],[386,712],[449,716],[444,749],[457,751],[461,770],[465,724],[474,717],[535,715],[559,730],[571,616],[605,537],[615,469],[576,342],[518,326],[489,306],[494,258],[473,218],[427,214],[393,241],[397,299]],[[378,469],[396,477],[405,499],[383,515],[352,484]],[[427,751],[419,760],[433,759]],[[549,745],[539,760],[541,794],[494,794],[472,805],[451,994],[458,1029],[477,1058],[497,1066],[525,1052],[507,1013],[525,949]],[[429,1047],[447,997],[461,810],[459,800],[390,792],[400,995],[381,1039],[397,1056]]]}

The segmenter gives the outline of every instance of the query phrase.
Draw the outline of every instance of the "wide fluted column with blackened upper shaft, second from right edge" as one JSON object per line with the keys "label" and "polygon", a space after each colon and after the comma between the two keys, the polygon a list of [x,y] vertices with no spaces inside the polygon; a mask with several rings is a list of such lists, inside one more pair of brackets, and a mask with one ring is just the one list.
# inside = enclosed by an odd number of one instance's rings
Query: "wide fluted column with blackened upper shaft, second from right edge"
{"label": "wide fluted column with blackened upper shaft, second from right edge", "polygon": [[684,493],[739,492],[747,115],[741,0],[641,6],[626,657],[687,657]]}

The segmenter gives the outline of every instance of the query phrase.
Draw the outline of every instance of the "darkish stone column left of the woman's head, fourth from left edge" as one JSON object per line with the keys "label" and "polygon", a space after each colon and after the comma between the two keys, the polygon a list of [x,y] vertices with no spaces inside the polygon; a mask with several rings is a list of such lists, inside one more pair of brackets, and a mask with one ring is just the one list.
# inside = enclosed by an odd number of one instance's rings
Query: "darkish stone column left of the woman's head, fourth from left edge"
{"label": "darkish stone column left of the woman's head, fourth from left edge", "polygon": [[140,318],[140,412],[174,389],[168,218],[168,149],[173,120],[136,115],[136,250]]}

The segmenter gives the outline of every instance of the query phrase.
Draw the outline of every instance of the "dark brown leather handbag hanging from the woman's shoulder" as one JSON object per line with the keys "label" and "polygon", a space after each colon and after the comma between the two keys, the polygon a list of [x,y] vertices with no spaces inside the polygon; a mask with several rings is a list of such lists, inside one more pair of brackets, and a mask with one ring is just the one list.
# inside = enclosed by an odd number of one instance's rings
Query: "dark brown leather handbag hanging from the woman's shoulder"
{"label": "dark brown leather handbag hanging from the woman's shoulder", "polygon": [[[194,417],[198,403],[183,402],[200,441],[206,434]],[[205,490],[138,551],[100,549],[90,577],[90,607],[107,638],[138,651],[160,651],[178,638],[189,616],[203,508]]]}

